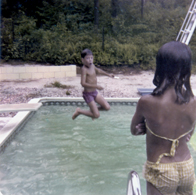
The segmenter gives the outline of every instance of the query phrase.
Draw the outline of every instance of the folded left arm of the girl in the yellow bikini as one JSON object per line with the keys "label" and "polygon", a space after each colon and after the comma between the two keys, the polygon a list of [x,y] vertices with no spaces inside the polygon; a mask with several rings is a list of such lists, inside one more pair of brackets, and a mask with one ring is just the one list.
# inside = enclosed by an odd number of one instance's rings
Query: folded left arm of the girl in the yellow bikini
{"label": "folded left arm of the girl in the yellow bikini", "polygon": [[135,114],[131,121],[131,133],[133,135],[144,135],[146,133],[146,126],[145,126],[145,118],[143,115],[144,112],[144,105],[143,100],[140,100],[137,103]]}

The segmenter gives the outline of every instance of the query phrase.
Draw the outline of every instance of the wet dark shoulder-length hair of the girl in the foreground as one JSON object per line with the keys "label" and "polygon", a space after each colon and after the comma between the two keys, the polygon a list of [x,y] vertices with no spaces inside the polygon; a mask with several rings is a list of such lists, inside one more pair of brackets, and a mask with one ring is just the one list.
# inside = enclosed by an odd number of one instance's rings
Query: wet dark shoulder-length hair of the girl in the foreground
{"label": "wet dark shoulder-length hair of the girl in the foreground", "polygon": [[152,95],[159,96],[171,85],[175,86],[176,103],[190,101],[193,92],[190,85],[191,50],[184,43],[172,41],[164,44],[156,57],[156,71]]}

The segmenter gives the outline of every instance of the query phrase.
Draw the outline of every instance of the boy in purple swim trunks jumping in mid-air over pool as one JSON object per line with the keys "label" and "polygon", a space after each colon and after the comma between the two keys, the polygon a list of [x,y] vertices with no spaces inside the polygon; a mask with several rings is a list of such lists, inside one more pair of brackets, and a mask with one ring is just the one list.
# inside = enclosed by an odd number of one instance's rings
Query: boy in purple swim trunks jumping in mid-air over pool
{"label": "boy in purple swim trunks jumping in mid-air over pool", "polygon": [[[108,74],[105,71],[95,67],[93,64],[93,53],[89,49],[83,50],[81,57],[83,63],[81,71],[81,85],[84,87],[83,98],[88,104],[90,110],[81,110],[80,108],[76,108],[72,119],[74,120],[80,114],[91,117],[92,119],[99,118],[99,110],[109,110],[110,105],[96,90],[103,89],[103,87],[97,85],[96,74],[104,74],[109,77],[114,77],[114,75]],[[97,107],[96,102],[100,105],[100,107]]]}

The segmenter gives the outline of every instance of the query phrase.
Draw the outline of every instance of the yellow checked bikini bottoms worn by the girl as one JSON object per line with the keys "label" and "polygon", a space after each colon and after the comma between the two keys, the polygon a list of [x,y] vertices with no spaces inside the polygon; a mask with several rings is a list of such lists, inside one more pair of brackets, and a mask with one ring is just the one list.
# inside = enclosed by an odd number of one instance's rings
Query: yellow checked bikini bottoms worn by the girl
{"label": "yellow checked bikini bottoms worn by the girl", "polygon": [[195,182],[193,159],[158,165],[147,161],[144,178],[162,194],[191,194]]}

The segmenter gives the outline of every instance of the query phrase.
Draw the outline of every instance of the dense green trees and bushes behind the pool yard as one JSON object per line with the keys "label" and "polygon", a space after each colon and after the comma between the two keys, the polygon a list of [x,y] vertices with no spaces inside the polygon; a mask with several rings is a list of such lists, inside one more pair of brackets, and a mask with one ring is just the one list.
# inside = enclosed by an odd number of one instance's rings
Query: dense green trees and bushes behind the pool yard
{"label": "dense green trees and bushes behind the pool yard", "polygon": [[[148,0],[142,18],[138,0],[118,0],[113,15],[112,0],[99,0],[99,28],[95,29],[93,2],[3,0],[2,58],[81,64],[80,53],[89,48],[97,65],[154,69],[158,49],[176,39],[190,4],[189,0]],[[195,43],[193,36],[193,53]]]}

